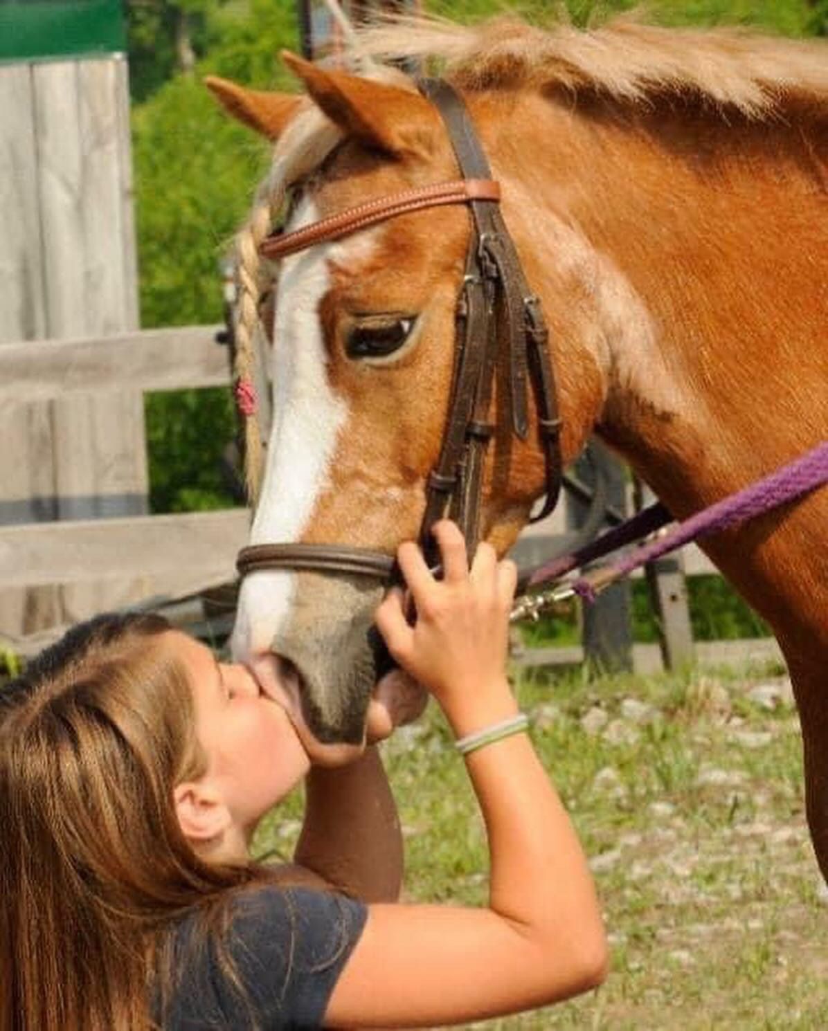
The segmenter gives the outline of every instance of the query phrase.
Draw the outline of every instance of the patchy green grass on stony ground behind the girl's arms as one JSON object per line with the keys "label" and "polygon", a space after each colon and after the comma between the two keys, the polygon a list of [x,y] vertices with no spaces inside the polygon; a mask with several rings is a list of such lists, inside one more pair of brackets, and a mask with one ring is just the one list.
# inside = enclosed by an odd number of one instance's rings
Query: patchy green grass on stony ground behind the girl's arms
{"label": "patchy green grass on stony ground behind the girl's arms", "polygon": [[[534,671],[517,684],[595,864],[612,968],[589,996],[487,1028],[828,1027],[828,908],[805,828],[797,720],[787,699],[768,711],[749,697],[768,679],[780,677]],[[625,719],[625,699],[652,706],[651,719]],[[592,708],[615,729],[587,733]],[[484,903],[484,829],[439,712],[384,747],[406,898]],[[296,795],[265,821],[259,849],[288,858],[300,814]]]}

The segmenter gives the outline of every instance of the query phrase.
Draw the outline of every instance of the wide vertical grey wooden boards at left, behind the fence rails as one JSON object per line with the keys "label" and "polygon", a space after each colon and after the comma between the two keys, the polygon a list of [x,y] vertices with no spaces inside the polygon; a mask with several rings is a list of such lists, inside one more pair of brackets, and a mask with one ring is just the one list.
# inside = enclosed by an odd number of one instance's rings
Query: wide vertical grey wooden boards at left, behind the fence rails
{"label": "wide vertical grey wooden boards at left, behind the fence rails", "polygon": [[[0,341],[137,327],[127,64],[123,55],[0,68]],[[0,523],[132,516],[146,506],[139,393],[7,404]],[[20,634],[130,600],[82,585],[0,601]],[[59,608],[60,611],[55,609]]]}

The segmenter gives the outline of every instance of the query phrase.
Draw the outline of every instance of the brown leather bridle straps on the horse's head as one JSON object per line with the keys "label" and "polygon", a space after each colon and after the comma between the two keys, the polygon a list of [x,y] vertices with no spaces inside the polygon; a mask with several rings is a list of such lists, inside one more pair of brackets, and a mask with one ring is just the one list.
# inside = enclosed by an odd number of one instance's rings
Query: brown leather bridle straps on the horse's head
{"label": "brown leather bridle straps on the horse's head", "polygon": [[[490,422],[495,377],[509,398],[511,430],[529,435],[528,389],[534,394],[537,432],[543,452],[545,499],[533,522],[555,507],[561,486],[561,455],[555,378],[547,344],[549,331],[540,301],[530,290],[498,202],[474,126],[460,95],[443,79],[422,79],[421,93],[442,117],[462,179],[421,187],[370,201],[291,233],[273,234],[260,253],[284,258],[313,244],[338,239],[398,214],[442,204],[467,204],[472,232],[463,286],[456,309],[456,347],[449,415],[437,463],[426,485],[420,542],[433,550],[431,528],[444,516],[463,531],[469,555],[479,540],[481,497],[486,452],[496,426]],[[501,337],[506,354],[500,356]],[[394,574],[394,557],[343,544],[253,544],[236,563],[240,576],[262,569],[300,569],[370,576]]]}

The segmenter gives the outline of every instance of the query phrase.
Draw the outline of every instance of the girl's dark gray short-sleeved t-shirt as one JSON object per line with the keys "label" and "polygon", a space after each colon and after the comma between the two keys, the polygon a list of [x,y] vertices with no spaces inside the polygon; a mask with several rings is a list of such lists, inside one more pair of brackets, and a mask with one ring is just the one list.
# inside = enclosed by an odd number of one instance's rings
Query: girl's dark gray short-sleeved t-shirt
{"label": "girl's dark gray short-sleeved t-shirt", "polygon": [[196,918],[174,934],[177,984],[164,1031],[300,1031],[320,1028],[328,1000],[365,926],[362,902],[307,888],[262,887],[230,903],[223,940],[238,978],[217,947],[194,935]]}

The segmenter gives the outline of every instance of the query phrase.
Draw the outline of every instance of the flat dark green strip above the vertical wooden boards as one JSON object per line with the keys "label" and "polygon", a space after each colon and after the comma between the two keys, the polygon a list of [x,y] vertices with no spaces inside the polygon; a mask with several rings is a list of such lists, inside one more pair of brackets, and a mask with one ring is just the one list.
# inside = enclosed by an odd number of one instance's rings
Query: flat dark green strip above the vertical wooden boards
{"label": "flat dark green strip above the vertical wooden boards", "polygon": [[124,49],[122,0],[0,0],[0,61]]}

